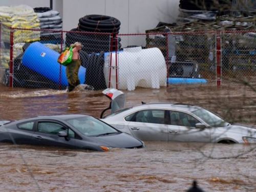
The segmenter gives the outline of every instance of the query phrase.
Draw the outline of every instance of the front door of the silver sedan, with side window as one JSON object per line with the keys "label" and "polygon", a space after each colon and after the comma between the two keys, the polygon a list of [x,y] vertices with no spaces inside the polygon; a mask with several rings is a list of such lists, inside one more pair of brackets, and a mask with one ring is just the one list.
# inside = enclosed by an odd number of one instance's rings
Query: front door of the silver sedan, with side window
{"label": "front door of the silver sedan, with side window", "polygon": [[210,142],[210,130],[198,129],[195,124],[200,121],[190,114],[169,111],[168,140],[182,142]]}

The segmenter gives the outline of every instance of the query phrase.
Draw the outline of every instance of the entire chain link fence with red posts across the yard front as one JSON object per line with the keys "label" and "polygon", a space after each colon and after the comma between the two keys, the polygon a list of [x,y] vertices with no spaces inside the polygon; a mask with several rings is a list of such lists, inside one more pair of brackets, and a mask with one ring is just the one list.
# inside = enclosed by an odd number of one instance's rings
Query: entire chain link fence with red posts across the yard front
{"label": "entire chain link fence with red posts across the yard front", "polygon": [[83,45],[79,79],[94,90],[256,80],[252,30],[112,34],[3,24],[0,30],[1,83],[9,87],[66,89],[66,67],[57,57],[76,41]]}

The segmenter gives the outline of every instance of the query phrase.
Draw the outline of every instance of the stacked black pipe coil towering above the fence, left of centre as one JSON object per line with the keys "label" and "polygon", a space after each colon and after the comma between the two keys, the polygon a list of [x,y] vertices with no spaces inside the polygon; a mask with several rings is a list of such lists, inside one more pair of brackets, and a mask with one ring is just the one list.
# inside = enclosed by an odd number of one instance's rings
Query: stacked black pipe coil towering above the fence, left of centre
{"label": "stacked black pipe coil towering above the fence, left of centre", "polygon": [[[66,34],[66,45],[81,42],[87,53],[115,51],[121,48],[121,38],[116,38],[121,22],[106,15],[86,15],[79,19],[78,27]],[[113,38],[111,36],[113,35]]]}

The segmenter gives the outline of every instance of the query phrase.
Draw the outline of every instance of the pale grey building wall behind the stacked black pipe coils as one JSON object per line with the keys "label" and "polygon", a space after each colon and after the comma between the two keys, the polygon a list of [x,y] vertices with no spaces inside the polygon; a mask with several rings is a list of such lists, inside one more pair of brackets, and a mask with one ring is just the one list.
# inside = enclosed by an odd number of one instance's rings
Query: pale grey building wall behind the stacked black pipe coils
{"label": "pale grey building wall behind the stacked black pipe coils", "polygon": [[[28,5],[50,7],[50,0],[1,0],[0,6]],[[145,33],[159,22],[174,23],[179,13],[179,0],[53,0],[60,13],[63,30],[77,27],[80,17],[102,14],[120,20],[119,33]]]}

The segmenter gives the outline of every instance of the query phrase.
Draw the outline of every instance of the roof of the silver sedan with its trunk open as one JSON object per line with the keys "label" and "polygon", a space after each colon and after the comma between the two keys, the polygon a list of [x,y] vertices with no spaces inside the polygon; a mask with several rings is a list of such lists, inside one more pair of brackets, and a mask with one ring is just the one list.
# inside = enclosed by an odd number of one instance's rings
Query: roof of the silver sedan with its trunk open
{"label": "roof of the silver sedan with its trunk open", "polygon": [[179,111],[195,111],[198,109],[202,109],[202,107],[193,105],[193,104],[187,104],[187,103],[174,103],[174,102],[148,102],[143,103],[134,106],[133,108],[141,108],[141,106],[144,106],[143,108],[164,108],[168,110],[179,110]]}

